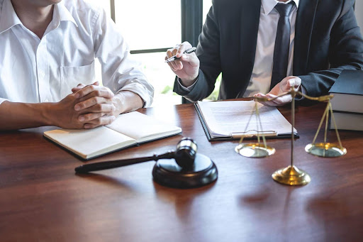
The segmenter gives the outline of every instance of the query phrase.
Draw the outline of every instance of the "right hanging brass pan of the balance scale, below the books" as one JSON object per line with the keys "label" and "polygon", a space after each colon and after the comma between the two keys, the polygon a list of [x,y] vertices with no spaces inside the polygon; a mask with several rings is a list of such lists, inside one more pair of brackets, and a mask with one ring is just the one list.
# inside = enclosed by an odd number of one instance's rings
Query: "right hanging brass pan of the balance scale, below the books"
{"label": "right hanging brass pan of the balance scale, below the books", "polygon": [[340,157],[347,153],[347,149],[336,143],[309,143],[305,151],[320,157]]}

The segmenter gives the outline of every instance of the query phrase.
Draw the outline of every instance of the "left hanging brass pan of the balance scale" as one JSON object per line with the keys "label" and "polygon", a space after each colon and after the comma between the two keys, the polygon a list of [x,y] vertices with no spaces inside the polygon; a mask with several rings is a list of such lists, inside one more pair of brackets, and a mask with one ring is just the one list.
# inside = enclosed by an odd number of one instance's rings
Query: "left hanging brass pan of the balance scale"
{"label": "left hanging brass pan of the balance scale", "polygon": [[235,152],[242,156],[250,158],[263,158],[275,153],[275,148],[267,145],[266,147],[261,143],[246,143],[240,144],[235,147]]}

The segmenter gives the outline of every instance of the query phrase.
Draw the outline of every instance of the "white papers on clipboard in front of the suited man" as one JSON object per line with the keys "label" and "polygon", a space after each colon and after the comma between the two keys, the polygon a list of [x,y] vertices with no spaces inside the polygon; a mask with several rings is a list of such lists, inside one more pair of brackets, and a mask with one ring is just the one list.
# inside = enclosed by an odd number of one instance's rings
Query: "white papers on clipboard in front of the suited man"
{"label": "white papers on clipboard in front of the suited man", "polygon": [[273,106],[257,103],[262,129],[257,128],[256,115],[251,117],[255,101],[198,101],[195,106],[209,141],[253,138],[257,130],[269,138],[291,137],[291,124]]}

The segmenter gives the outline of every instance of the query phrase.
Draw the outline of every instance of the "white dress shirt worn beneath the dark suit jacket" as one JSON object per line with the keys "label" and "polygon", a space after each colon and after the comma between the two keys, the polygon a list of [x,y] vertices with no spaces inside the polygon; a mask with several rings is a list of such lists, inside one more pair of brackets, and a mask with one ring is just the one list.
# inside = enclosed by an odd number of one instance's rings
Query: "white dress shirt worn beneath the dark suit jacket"
{"label": "white dress shirt worn beneath the dark suit jacket", "polygon": [[[294,60],[294,40],[295,40],[295,22],[299,0],[290,0],[286,3],[277,0],[262,0],[261,11],[259,13],[259,27],[257,33],[257,45],[255,64],[253,65],[250,83],[242,97],[252,97],[257,93],[267,94],[272,78],[272,67],[274,64],[274,47],[277,33],[277,24],[279,23],[279,12],[274,9],[277,4],[288,4],[295,2],[289,19],[291,25],[290,32],[290,49],[289,64],[287,67],[287,77],[292,75],[292,65]],[[223,75],[223,73],[222,73]],[[179,85],[182,89],[190,92],[196,82],[189,87],[184,87],[178,78]]]}

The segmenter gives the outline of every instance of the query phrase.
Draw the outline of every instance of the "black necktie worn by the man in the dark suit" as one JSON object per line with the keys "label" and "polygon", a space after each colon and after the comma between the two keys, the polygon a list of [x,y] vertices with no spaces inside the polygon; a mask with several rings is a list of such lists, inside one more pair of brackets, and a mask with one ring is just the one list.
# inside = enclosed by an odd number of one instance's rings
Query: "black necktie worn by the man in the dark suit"
{"label": "black necktie worn by the man in the dark suit", "polygon": [[293,9],[294,2],[289,4],[277,4],[275,9],[279,12],[280,18],[277,25],[277,35],[274,48],[274,64],[270,90],[287,75],[290,47],[290,21],[289,15]]}

